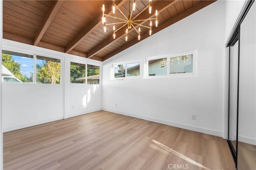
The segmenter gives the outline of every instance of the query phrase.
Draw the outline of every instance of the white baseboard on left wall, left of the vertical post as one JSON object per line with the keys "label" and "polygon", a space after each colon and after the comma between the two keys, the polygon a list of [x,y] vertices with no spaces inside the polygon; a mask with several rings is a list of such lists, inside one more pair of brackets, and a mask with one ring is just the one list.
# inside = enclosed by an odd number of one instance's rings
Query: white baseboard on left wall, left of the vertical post
{"label": "white baseboard on left wall, left of the vertical post", "polygon": [[3,132],[9,132],[9,131],[17,130],[17,129],[20,129],[20,128],[32,127],[32,126],[35,126],[35,125],[40,125],[40,124],[48,123],[48,122],[52,122],[52,121],[58,121],[58,120],[63,119],[63,118],[64,118],[63,116],[58,116],[58,117],[43,119],[43,120],[40,120],[40,121],[34,121],[34,122],[14,125],[14,126],[10,126],[10,127],[3,127]]}

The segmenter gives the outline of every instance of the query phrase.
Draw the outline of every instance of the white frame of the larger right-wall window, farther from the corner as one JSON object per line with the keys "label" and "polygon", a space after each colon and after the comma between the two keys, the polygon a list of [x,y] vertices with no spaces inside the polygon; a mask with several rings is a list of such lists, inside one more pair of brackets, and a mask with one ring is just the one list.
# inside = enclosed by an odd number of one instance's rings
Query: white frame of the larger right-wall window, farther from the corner
{"label": "white frame of the larger right-wall window, farther from the corner", "polygon": [[[178,74],[170,74],[169,69],[170,69],[170,58],[172,57],[180,57],[183,55],[193,55],[193,72],[192,73],[178,73]],[[149,76],[148,75],[148,61],[152,59],[161,59],[161,58],[167,58],[167,71],[166,75],[155,75],[155,76]],[[196,77],[197,76],[197,49],[193,51],[186,51],[186,52],[181,52],[181,53],[174,53],[174,54],[164,54],[164,55],[157,55],[153,57],[148,57],[145,58],[144,60],[144,65],[146,66],[144,69],[144,78],[146,79],[156,79],[156,78],[166,78],[166,77]]]}

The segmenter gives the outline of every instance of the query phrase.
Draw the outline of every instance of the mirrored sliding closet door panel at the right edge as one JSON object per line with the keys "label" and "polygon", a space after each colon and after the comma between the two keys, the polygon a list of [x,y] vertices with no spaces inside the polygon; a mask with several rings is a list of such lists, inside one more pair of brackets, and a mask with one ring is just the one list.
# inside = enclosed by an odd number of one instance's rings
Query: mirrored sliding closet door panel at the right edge
{"label": "mirrored sliding closet door panel at the right edge", "polygon": [[240,25],[238,170],[256,169],[256,8]]}

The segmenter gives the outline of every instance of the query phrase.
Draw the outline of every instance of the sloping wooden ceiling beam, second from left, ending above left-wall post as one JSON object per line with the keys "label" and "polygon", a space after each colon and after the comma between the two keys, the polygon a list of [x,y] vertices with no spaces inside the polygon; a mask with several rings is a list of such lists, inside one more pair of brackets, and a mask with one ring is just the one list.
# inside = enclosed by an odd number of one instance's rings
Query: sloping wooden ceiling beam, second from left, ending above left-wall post
{"label": "sloping wooden ceiling beam, second from left, ending above left-wall post", "polygon": [[[126,2],[125,0],[116,0],[115,4],[118,6],[122,6]],[[105,13],[110,15],[112,14],[112,4],[108,4],[105,7]],[[102,14],[100,13],[96,18],[88,25],[86,28],[80,32],[76,38],[65,48],[65,53],[69,53],[76,45],[78,45],[84,38],[86,38],[92,31],[94,31],[98,26],[102,24]]]}

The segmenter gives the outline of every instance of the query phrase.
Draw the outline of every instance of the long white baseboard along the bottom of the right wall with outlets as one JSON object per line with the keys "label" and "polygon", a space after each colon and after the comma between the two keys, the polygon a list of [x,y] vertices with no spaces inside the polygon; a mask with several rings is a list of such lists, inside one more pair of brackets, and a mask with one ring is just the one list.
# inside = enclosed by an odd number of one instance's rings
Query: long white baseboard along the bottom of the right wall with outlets
{"label": "long white baseboard along the bottom of the right wall with outlets", "polygon": [[173,126],[173,127],[184,128],[184,129],[187,129],[187,130],[193,130],[193,131],[196,131],[196,132],[211,134],[211,135],[214,135],[214,136],[220,136],[220,137],[223,136],[222,132],[207,129],[207,128],[201,128],[201,127],[195,127],[195,126],[185,125],[185,124],[181,124],[181,123],[175,123],[175,122],[172,122],[172,121],[166,121],[166,120],[157,119],[157,118],[153,118],[153,117],[147,117],[147,116],[143,116],[143,115],[136,115],[136,114],[132,114],[132,113],[116,111],[116,110],[113,110],[113,109],[102,108],[102,110],[117,113],[117,114],[121,114],[121,115],[136,117],[136,118],[139,118],[139,119],[144,119],[144,120],[152,121],[152,122],[156,122],[156,123],[161,123],[161,124],[164,124],[164,125],[170,125],[170,126]]}

